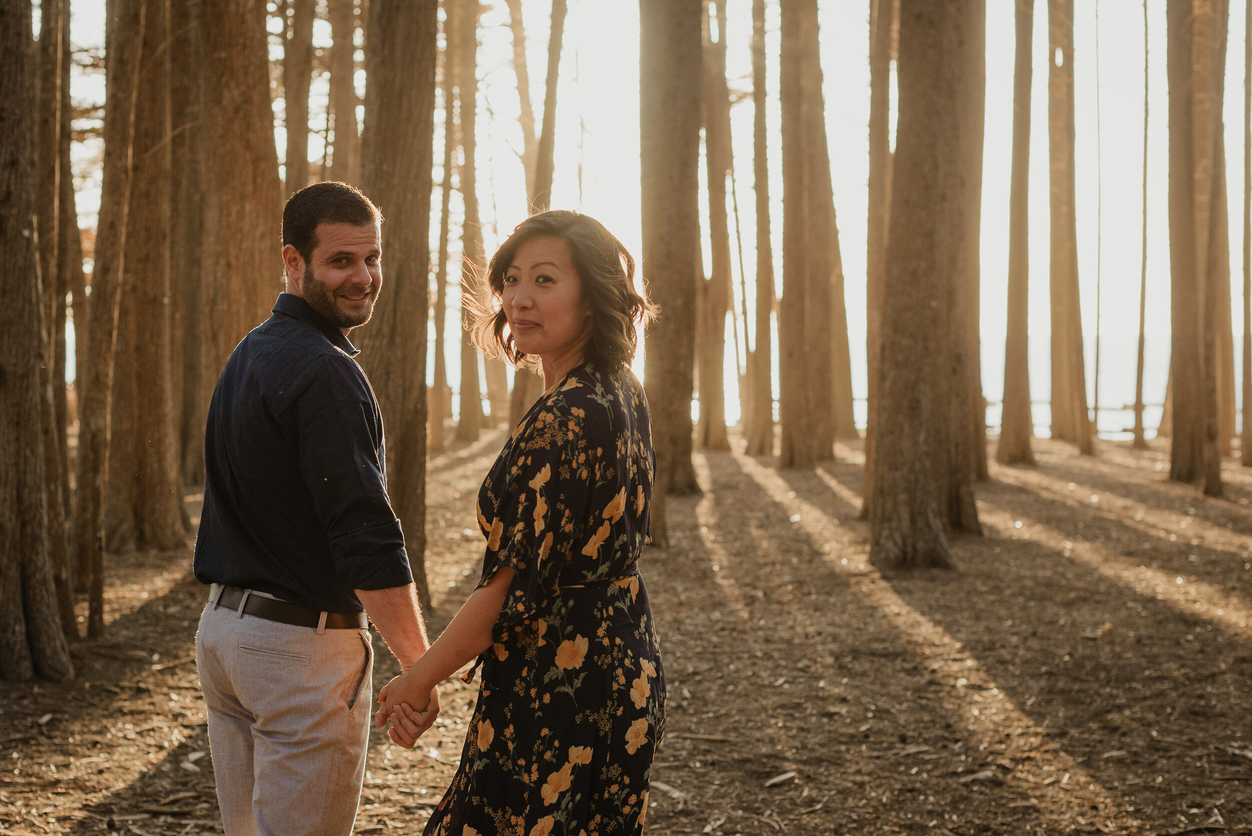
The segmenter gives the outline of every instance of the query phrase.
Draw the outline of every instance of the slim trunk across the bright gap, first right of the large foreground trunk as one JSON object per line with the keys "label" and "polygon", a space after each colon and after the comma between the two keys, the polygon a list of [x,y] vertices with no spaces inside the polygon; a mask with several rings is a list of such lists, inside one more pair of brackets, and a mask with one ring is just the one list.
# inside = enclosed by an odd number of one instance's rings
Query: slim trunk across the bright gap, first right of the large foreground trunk
{"label": "slim trunk across the bright gap, first right of the large foreground trunk", "polygon": [[1030,438],[1030,365],[1027,352],[1029,317],[1030,238],[1030,79],[1034,43],[1034,0],[1017,0],[1017,59],[1013,69],[1013,173],[1009,195],[1009,305],[1004,342],[1004,400],[1000,464],[1034,464]]}

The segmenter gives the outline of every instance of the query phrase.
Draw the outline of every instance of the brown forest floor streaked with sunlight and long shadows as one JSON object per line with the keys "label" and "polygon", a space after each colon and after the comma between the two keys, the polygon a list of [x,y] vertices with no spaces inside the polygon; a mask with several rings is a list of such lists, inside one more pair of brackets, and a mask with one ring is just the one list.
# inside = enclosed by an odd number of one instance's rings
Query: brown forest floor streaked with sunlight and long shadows
{"label": "brown forest floor streaked with sunlight and long shadows", "polygon": [[[436,631],[477,581],[502,437],[431,461]],[[815,473],[697,456],[705,492],[642,562],[669,686],[647,830],[1252,833],[1252,471],[1207,499],[1162,444],[1035,449],[992,464],[957,569],[911,574],[868,562],[858,448]],[[78,680],[0,683],[0,833],[220,832],[188,558],[111,556]],[[424,825],[475,693],[446,683],[412,751],[376,731],[358,833]]]}

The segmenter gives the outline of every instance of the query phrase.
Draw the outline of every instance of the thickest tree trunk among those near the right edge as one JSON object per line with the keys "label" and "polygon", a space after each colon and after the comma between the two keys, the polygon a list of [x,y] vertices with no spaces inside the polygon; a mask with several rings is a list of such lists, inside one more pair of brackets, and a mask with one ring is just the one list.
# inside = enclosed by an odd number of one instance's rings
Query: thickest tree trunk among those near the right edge
{"label": "thickest tree trunk among those near the right edge", "polygon": [[[1221,134],[1224,3],[1171,0],[1169,265],[1173,385],[1169,478],[1219,496],[1216,280],[1211,250]],[[1216,180],[1216,183],[1214,183]],[[1214,194],[1216,193],[1216,194]]]}

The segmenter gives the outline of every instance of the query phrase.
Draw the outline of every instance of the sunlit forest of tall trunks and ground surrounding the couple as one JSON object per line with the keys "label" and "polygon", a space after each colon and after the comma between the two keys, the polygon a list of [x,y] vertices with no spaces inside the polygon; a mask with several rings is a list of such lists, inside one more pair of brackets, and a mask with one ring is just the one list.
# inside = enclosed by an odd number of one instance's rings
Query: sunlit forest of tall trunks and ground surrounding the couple
{"label": "sunlit forest of tall trunks and ground surrounding the couple", "polygon": [[[471,339],[487,259],[548,208],[639,259],[650,832],[1252,833],[1252,4],[0,0],[0,833],[223,831],[205,417],[326,180],[386,218],[352,340],[433,633],[543,389]],[[429,817],[442,687],[357,832]]]}

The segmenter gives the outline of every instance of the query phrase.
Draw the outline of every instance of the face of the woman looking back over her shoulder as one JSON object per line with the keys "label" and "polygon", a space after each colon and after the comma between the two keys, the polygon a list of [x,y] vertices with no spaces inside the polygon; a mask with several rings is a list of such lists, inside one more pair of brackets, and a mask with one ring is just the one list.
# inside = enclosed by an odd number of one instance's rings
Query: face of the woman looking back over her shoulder
{"label": "face of the woman looking back over her shoulder", "polygon": [[591,305],[570,242],[555,235],[526,240],[505,273],[501,297],[518,350],[545,364],[581,355],[591,335]]}

